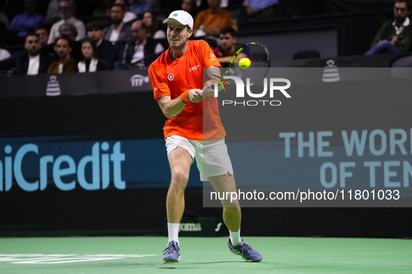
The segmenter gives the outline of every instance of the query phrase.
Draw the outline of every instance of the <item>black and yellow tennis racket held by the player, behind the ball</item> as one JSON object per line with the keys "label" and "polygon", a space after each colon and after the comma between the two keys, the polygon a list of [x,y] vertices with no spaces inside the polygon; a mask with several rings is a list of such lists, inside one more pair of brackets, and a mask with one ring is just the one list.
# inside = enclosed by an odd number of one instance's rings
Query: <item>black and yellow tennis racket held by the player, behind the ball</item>
{"label": "black and yellow tennis racket held by the player, behind the ball", "polygon": [[[239,61],[242,58],[249,58],[250,59],[250,67],[243,69],[239,66]],[[231,62],[229,67],[227,68],[226,72],[222,75],[222,77],[218,75],[218,79],[220,79],[227,88],[228,85],[234,84],[235,82],[231,79],[224,79],[224,76],[236,76],[242,79],[243,83],[246,84],[246,79],[250,79],[250,86],[254,85],[255,83],[259,83],[261,79],[264,79],[266,74],[268,74],[270,67],[270,56],[269,51],[259,43],[249,43],[244,45],[236,53],[234,54],[233,58],[231,58]]]}

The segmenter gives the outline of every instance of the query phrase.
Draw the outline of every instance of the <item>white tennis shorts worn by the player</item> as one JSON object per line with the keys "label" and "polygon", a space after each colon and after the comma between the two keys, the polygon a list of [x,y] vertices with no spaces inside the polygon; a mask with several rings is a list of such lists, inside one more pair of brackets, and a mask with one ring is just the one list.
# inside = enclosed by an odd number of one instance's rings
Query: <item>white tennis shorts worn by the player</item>
{"label": "white tennis shorts worn by the player", "polygon": [[167,155],[176,147],[183,147],[188,151],[192,158],[196,159],[201,181],[208,181],[208,177],[225,175],[227,172],[234,174],[224,137],[201,141],[174,135],[166,138],[166,147]]}

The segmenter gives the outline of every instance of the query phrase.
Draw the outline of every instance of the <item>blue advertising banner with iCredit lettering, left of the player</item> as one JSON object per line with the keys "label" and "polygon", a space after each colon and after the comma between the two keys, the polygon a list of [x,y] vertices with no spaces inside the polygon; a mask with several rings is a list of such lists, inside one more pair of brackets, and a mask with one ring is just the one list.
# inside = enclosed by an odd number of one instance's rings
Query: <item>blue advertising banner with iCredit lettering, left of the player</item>
{"label": "blue advertising banner with iCredit lettering, left of the player", "polygon": [[[59,139],[63,139],[60,140]],[[63,138],[3,138],[0,146],[0,191],[22,188],[45,191],[54,184],[61,191],[82,188],[168,187],[169,163],[165,140],[68,141]],[[192,166],[188,186],[201,186]],[[197,176],[196,176],[197,175]]]}

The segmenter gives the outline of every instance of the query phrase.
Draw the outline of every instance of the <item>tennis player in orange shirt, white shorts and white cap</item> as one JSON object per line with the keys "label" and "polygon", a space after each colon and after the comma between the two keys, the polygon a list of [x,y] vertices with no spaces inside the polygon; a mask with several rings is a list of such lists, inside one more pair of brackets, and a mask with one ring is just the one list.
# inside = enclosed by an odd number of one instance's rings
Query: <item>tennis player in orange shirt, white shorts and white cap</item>
{"label": "tennis player in orange shirt, white shorts and white cap", "polygon": [[[163,263],[181,259],[178,227],[185,208],[185,187],[194,159],[202,181],[211,182],[215,191],[235,191],[234,172],[224,143],[226,132],[220,122],[218,100],[213,97],[213,74],[220,75],[220,63],[204,40],[189,41],[193,18],[176,10],[163,20],[167,23],[169,49],[148,68],[148,76],[167,120],[163,127],[171,182],[167,193],[167,228],[169,241]],[[203,68],[211,80],[203,83]],[[204,104],[204,100],[208,100]],[[204,120],[204,115],[208,119]],[[204,124],[204,121],[206,124]],[[222,200],[223,220],[229,228],[227,246],[245,261],[262,257],[241,239],[241,208],[238,200]]]}

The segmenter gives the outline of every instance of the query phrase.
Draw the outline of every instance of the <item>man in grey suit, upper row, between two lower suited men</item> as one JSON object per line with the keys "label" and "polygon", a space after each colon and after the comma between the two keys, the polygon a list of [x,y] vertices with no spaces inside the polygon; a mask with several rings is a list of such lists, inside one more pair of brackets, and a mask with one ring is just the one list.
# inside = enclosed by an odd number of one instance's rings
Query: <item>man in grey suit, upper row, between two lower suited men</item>
{"label": "man in grey suit, upper row, between two lower suited men", "polygon": [[112,20],[112,25],[108,26],[103,30],[105,40],[110,42],[118,41],[131,41],[132,32],[130,31],[130,24],[123,23],[123,17],[125,16],[125,10],[122,5],[114,4],[112,6],[112,13],[110,13],[110,19]]}

